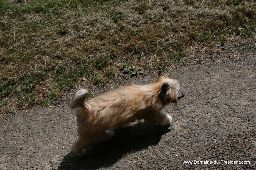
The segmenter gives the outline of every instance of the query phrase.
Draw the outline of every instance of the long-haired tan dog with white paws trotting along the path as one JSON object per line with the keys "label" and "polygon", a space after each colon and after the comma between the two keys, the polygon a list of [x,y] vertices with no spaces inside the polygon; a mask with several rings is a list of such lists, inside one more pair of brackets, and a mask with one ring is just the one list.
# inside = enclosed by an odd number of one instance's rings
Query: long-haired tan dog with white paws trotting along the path
{"label": "long-haired tan dog with white paws trotting along the path", "polygon": [[70,102],[70,108],[77,117],[79,134],[79,140],[72,145],[72,152],[84,156],[87,146],[114,137],[115,132],[110,129],[116,126],[128,128],[136,120],[144,119],[149,125],[170,124],[172,117],[162,109],[170,103],[177,105],[176,99],[185,96],[180,89],[180,81],[159,71],[154,83],[119,87],[86,103],[88,90],[78,90]]}

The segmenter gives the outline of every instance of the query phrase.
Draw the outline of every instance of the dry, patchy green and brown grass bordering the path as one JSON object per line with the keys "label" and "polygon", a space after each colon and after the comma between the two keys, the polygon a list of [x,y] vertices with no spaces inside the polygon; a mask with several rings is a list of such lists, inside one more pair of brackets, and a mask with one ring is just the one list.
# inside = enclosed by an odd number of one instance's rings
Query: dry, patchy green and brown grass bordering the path
{"label": "dry, patchy green and brown grass bordering the path", "polygon": [[84,77],[104,86],[124,62],[188,63],[191,47],[256,30],[253,0],[0,0],[1,112],[48,105]]}

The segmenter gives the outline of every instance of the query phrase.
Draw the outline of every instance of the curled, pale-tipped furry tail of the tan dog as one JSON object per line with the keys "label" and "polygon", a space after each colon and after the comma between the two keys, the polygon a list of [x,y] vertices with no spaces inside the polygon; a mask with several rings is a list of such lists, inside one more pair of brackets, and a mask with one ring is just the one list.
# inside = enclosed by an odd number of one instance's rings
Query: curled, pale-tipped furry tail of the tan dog
{"label": "curled, pale-tipped furry tail of the tan dog", "polygon": [[87,98],[88,94],[89,92],[86,89],[78,90],[71,99],[70,108],[75,109],[76,107],[84,106],[84,101]]}

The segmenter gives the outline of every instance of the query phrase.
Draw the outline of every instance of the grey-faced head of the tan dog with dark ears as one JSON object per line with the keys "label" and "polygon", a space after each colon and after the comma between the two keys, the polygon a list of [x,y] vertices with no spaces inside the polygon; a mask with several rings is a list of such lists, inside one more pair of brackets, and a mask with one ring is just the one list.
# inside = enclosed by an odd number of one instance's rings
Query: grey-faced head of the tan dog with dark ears
{"label": "grey-faced head of the tan dog with dark ears", "polygon": [[164,105],[169,103],[174,103],[178,105],[176,99],[181,99],[185,95],[180,91],[181,83],[177,79],[172,79],[167,77],[164,72],[159,71],[156,82],[161,85],[161,90],[159,92],[159,97],[164,103]]}

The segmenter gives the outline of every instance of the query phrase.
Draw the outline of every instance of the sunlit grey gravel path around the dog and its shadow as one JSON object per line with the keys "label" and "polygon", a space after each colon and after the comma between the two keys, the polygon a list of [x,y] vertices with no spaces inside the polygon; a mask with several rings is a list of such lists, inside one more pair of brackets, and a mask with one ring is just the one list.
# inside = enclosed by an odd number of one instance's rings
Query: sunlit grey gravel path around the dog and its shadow
{"label": "sunlit grey gravel path around the dog and its shadow", "polygon": [[[77,158],[70,152],[76,118],[67,103],[19,111],[0,122],[0,169],[256,169],[256,41],[220,50],[198,54],[196,65],[169,74],[185,94],[178,106],[164,108],[173,117],[170,126],[117,127],[111,141]],[[224,62],[227,57],[243,60]],[[109,84],[118,87],[127,76],[117,74]],[[155,79],[145,74],[125,84]]]}

